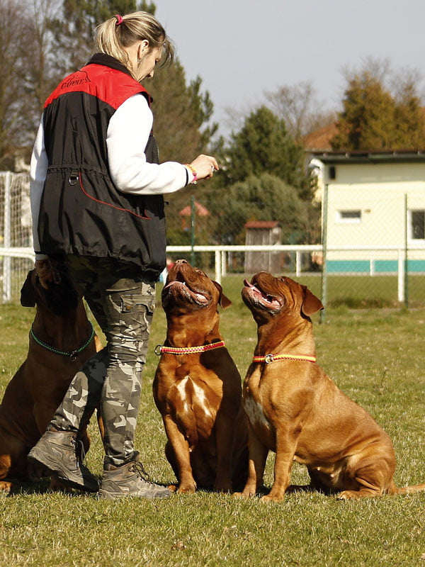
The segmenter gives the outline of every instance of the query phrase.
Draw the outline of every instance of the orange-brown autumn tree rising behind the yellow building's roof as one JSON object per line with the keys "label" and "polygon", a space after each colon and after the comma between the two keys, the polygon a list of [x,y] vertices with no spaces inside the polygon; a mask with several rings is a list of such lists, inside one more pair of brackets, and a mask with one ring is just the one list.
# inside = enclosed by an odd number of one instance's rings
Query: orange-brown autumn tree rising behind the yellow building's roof
{"label": "orange-brown autumn tree rising behind the yellow building's roof", "polygon": [[[425,115],[412,77],[392,94],[387,67],[367,64],[348,76],[334,150],[418,150],[425,148]],[[394,84],[394,82],[393,82]]]}

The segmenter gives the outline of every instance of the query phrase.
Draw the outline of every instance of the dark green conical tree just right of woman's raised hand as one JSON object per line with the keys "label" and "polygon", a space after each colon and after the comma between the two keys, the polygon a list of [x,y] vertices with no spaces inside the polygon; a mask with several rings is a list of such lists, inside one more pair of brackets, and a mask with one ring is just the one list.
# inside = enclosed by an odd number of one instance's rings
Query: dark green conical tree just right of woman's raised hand
{"label": "dark green conical tree just right of woman's raised hand", "polygon": [[233,133],[225,148],[225,184],[268,173],[296,189],[303,199],[311,197],[310,178],[305,173],[304,150],[288,133],[285,121],[260,106]]}

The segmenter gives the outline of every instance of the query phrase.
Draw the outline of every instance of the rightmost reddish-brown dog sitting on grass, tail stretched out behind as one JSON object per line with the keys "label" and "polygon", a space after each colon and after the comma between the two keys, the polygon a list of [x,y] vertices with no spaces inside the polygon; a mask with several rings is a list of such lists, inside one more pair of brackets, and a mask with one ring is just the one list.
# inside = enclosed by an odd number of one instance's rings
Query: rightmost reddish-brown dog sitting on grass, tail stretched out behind
{"label": "rightmost reddish-brown dog sitting on grass, tail stretched out behind", "polygon": [[250,425],[242,495],[254,495],[263,482],[269,450],[276,452],[274,482],[263,500],[283,498],[293,461],[307,466],[310,489],[341,499],[425,490],[425,484],[396,488],[390,438],[315,364],[310,315],[323,308],[319,299],[264,271],[245,281],[242,298],[258,325],[243,387]]}

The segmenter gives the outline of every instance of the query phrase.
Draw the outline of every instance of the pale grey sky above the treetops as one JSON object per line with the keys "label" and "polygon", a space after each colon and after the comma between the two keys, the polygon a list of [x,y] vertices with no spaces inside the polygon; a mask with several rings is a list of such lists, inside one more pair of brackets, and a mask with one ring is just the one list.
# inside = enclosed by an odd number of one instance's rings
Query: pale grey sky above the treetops
{"label": "pale grey sky above the treetops", "polygon": [[234,128],[266,92],[310,81],[338,110],[344,68],[368,57],[425,76],[424,0],[155,0],[188,81],[209,91],[219,133]]}

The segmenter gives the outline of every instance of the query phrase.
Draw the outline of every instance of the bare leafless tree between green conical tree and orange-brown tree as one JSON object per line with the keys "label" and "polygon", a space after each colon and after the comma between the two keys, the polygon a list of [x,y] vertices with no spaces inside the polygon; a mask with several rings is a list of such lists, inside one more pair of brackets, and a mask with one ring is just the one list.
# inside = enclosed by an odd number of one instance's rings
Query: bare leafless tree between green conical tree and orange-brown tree
{"label": "bare leafless tree between green conical tree and orange-brown tree", "polygon": [[271,109],[285,120],[286,128],[297,143],[308,134],[334,121],[334,112],[324,109],[317,101],[312,82],[280,86],[276,92],[266,93]]}

